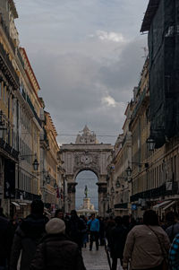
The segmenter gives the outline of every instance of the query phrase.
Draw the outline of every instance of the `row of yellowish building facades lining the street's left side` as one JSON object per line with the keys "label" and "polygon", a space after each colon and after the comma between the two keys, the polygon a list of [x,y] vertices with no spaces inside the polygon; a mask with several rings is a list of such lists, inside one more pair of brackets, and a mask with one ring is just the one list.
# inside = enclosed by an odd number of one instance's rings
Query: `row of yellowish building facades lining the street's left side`
{"label": "row of yellowish building facades lining the street's left side", "polygon": [[[43,198],[40,161],[44,156],[41,156],[40,135],[44,129],[49,130],[46,161],[54,185],[49,185],[51,196],[47,203],[53,201],[54,205],[60,186],[57,183],[59,148],[50,117],[47,123],[51,121],[51,126],[49,123],[44,126],[44,103],[38,97],[38,81],[25,48],[19,47],[15,27],[18,13],[13,0],[2,0],[0,13],[0,205],[5,214],[19,213],[23,217],[30,213],[33,199]],[[34,161],[36,165],[40,163],[40,168],[35,170]]]}

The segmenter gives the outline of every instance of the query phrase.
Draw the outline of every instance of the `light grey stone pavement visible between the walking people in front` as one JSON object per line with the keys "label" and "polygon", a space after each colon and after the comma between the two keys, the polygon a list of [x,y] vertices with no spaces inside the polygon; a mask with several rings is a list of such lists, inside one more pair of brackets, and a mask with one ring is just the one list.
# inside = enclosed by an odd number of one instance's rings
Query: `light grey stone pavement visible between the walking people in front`
{"label": "light grey stone pavement visible between the walking people in front", "polygon": [[91,251],[89,246],[82,248],[82,257],[87,270],[109,270],[105,247],[99,246],[98,251],[95,246]]}

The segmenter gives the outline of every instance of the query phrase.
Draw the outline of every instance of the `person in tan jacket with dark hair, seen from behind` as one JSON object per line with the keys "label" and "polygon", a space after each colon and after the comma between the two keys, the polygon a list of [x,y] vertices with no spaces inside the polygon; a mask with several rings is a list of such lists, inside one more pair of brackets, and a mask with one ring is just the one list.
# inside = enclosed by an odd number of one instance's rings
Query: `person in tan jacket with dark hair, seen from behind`
{"label": "person in tan jacket with dark hair, seen from behind", "polygon": [[166,265],[170,241],[158,225],[158,215],[153,210],[143,214],[143,224],[129,232],[124,247],[124,269],[162,270]]}

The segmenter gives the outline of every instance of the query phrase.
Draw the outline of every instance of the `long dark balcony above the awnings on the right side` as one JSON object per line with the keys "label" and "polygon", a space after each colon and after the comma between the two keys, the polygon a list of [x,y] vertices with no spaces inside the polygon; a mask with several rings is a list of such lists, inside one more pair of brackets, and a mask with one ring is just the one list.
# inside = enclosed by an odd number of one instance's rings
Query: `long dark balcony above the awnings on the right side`
{"label": "long dark balcony above the awnings on the right side", "polygon": [[166,184],[152,188],[131,196],[131,202],[136,202],[141,199],[154,199],[159,196],[172,196],[178,194],[178,182],[172,183],[172,190],[166,190]]}

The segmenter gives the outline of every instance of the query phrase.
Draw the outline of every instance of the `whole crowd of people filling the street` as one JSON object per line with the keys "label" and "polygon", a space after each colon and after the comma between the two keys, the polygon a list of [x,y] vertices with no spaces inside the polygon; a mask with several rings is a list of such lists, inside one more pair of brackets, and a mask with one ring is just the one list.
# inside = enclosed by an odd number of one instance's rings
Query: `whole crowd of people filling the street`
{"label": "whole crowd of people filling the street", "polygon": [[[164,222],[147,210],[136,221],[123,217],[64,216],[56,210],[50,220],[44,204],[33,201],[25,219],[8,220],[0,208],[0,270],[85,270],[81,248],[106,248],[112,270],[179,270],[178,214],[166,213]],[[89,243],[89,245],[88,245]],[[109,259],[110,261],[110,259]]]}

